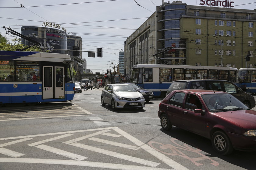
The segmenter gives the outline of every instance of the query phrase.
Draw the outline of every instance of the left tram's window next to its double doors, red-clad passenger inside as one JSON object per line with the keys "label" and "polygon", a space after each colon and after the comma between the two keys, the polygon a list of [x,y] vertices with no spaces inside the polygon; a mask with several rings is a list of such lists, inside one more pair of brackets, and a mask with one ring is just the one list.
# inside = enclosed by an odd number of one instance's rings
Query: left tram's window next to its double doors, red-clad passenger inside
{"label": "left tram's window next to its double doors, red-clad passenger inside", "polygon": [[16,81],[40,81],[40,67],[37,61],[17,61]]}

